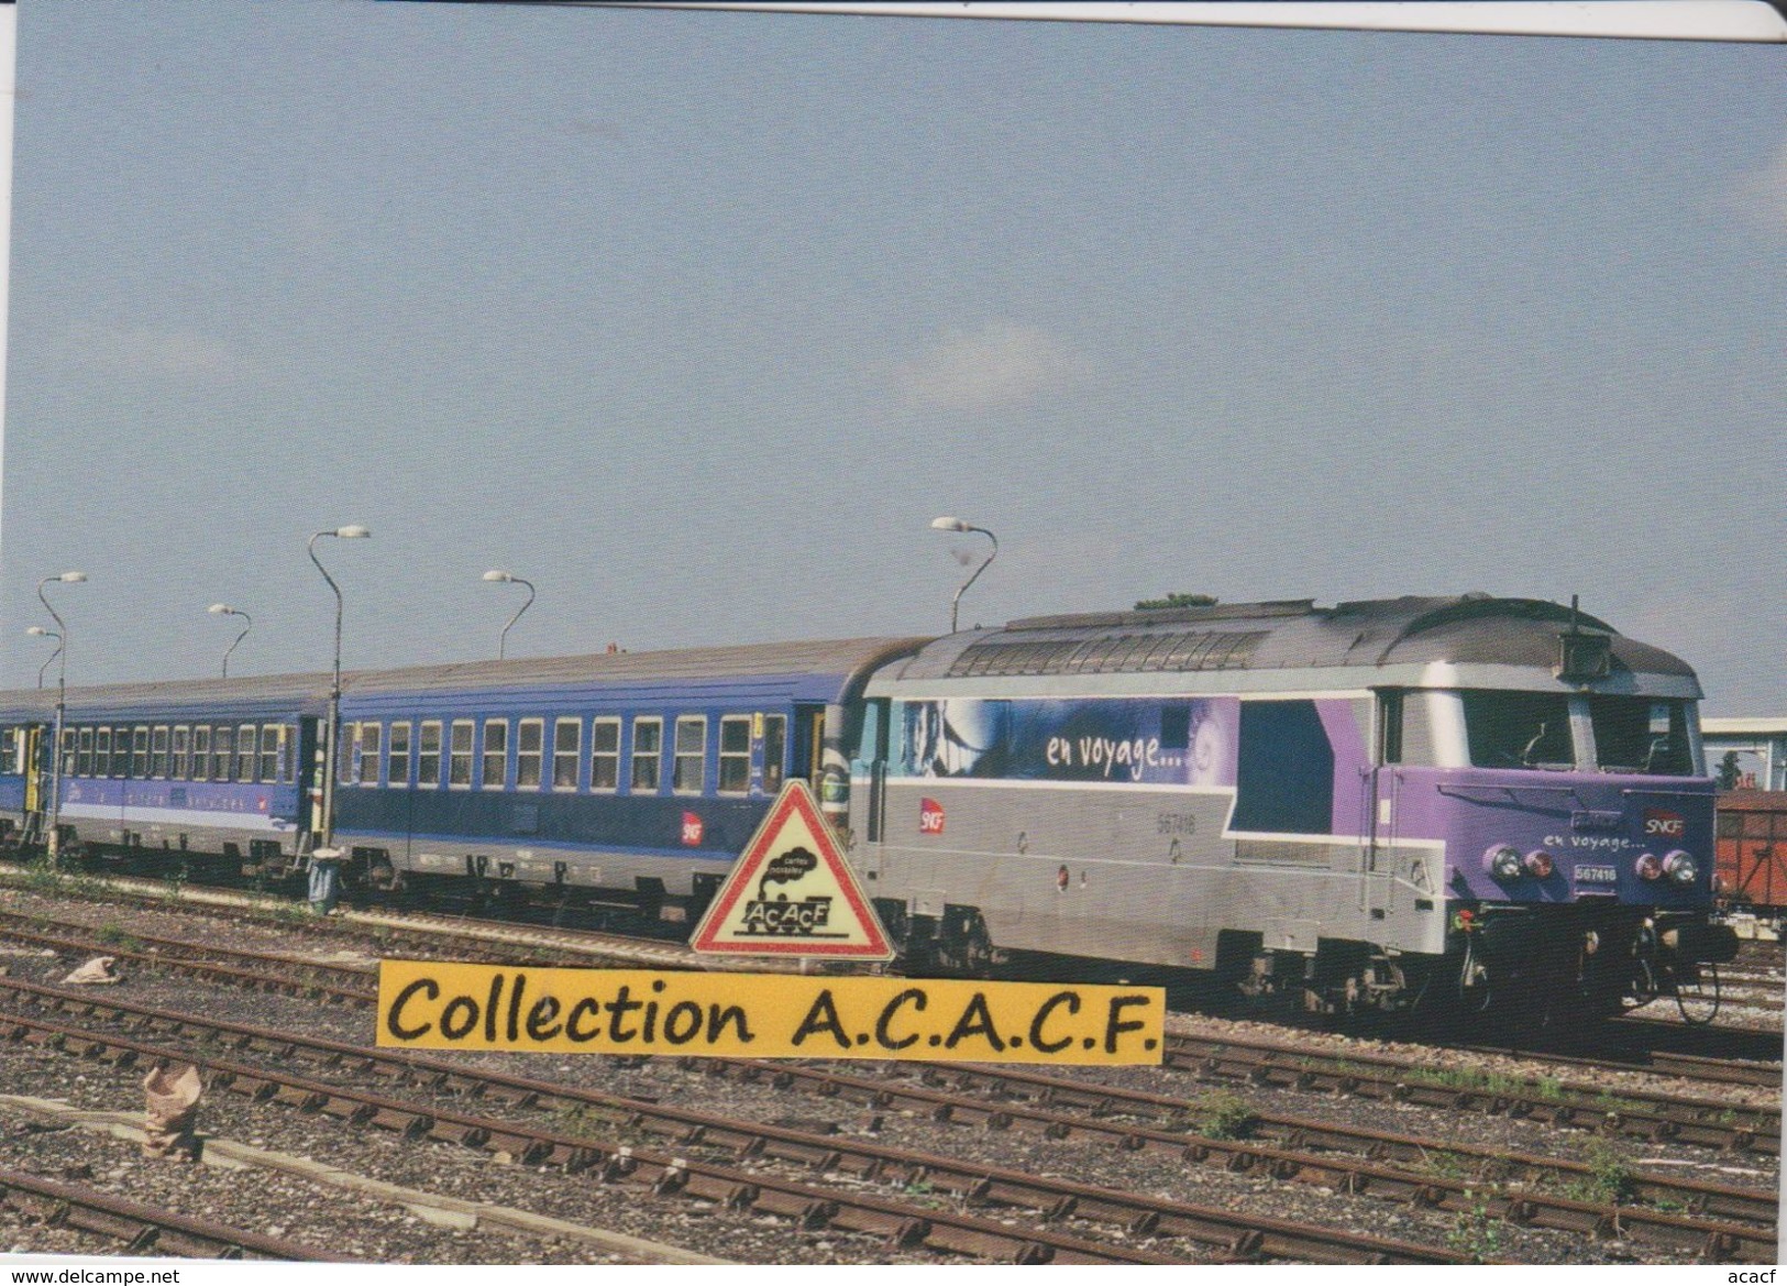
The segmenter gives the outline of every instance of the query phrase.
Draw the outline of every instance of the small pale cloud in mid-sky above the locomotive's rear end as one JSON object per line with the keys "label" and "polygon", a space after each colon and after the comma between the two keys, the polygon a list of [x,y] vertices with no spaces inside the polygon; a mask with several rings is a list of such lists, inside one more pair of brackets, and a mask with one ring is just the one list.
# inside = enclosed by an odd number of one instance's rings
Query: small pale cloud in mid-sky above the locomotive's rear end
{"label": "small pale cloud in mid-sky above the locomotive's rear end", "polygon": [[1088,363],[1035,326],[988,322],[949,331],[897,372],[906,402],[924,410],[1024,406],[1085,379]]}

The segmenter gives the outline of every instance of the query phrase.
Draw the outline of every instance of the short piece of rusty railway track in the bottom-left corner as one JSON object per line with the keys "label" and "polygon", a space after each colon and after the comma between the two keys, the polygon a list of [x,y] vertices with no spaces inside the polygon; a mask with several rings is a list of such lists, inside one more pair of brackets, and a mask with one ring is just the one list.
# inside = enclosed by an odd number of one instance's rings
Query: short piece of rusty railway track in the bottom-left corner
{"label": "short piece of rusty railway track in the bottom-left corner", "polygon": [[39,1218],[50,1227],[71,1227],[123,1241],[129,1254],[198,1259],[241,1259],[254,1254],[295,1263],[357,1263],[302,1241],[284,1241],[227,1223],[195,1220],[96,1188],[55,1182],[18,1170],[0,1170],[0,1204]]}

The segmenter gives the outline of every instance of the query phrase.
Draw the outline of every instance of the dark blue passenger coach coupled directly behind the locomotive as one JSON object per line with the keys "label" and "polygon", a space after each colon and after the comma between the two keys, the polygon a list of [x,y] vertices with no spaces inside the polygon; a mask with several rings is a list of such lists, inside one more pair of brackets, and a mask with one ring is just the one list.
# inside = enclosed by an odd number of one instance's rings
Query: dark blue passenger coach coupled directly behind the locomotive
{"label": "dark blue passenger coach coupled directly behind the locomotive", "polygon": [[336,844],[375,885],[454,880],[704,903],[790,776],[831,778],[868,673],[856,639],[354,674]]}

